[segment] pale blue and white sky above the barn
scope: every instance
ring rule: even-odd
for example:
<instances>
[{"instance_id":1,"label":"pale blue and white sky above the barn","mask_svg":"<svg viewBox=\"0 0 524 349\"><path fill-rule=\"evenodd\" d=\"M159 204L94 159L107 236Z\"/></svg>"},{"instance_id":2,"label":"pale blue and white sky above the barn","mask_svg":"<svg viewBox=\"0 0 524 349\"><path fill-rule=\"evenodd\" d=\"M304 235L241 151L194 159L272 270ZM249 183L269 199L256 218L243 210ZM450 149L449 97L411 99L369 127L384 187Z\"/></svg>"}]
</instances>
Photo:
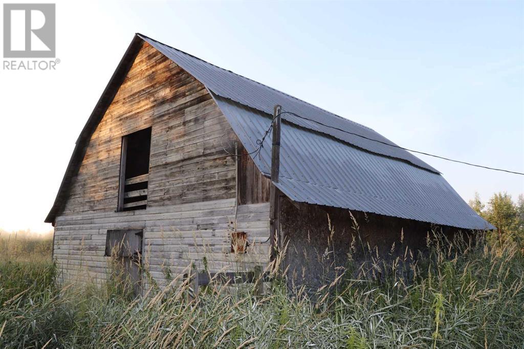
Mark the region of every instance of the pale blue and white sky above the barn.
<instances>
[{"instance_id":1,"label":"pale blue and white sky above the barn","mask_svg":"<svg viewBox=\"0 0 524 349\"><path fill-rule=\"evenodd\" d=\"M0 71L0 227L50 228L74 141L135 32L401 146L524 172L522 1L57 2L57 71ZM524 192L523 176L419 157L465 200Z\"/></svg>"}]
</instances>

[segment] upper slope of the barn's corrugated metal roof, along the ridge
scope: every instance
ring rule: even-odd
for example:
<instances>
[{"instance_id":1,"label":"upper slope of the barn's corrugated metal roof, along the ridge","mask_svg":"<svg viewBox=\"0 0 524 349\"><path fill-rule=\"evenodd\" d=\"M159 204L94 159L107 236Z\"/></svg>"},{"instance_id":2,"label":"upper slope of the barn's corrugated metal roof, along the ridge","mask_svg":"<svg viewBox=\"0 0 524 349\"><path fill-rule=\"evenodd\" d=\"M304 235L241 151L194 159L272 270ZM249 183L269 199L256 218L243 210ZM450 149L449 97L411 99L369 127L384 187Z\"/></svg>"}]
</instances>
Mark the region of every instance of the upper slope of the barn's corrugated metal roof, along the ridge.
<instances>
[{"instance_id":1,"label":"upper slope of the barn's corrugated metal roof, along the ridge","mask_svg":"<svg viewBox=\"0 0 524 349\"><path fill-rule=\"evenodd\" d=\"M242 75L238 75L231 71L216 67L211 63L191 56L188 53L174 49L154 39L148 38L147 36L141 34L138 34L138 36L165 54L165 56L169 57L184 70L188 71L191 75L193 75L193 77L200 80L206 86L206 88L221 97L233 100L243 105L247 105L268 114L272 114L274 106L276 104L280 104L286 111L307 117L313 121L321 122L325 125L343 129L347 132L352 132L367 138L380 140L387 144L395 145L392 143L392 141L388 140L384 136L381 136L369 127L337 116L286 93L242 77ZM363 148L377 154L403 159L419 167L438 172L438 170L434 169L406 150L390 147L386 144L380 144L372 140L347 134L340 130L326 127L289 114L282 115L282 118L299 126L344 140L359 148Z\"/></svg>"}]
</instances>

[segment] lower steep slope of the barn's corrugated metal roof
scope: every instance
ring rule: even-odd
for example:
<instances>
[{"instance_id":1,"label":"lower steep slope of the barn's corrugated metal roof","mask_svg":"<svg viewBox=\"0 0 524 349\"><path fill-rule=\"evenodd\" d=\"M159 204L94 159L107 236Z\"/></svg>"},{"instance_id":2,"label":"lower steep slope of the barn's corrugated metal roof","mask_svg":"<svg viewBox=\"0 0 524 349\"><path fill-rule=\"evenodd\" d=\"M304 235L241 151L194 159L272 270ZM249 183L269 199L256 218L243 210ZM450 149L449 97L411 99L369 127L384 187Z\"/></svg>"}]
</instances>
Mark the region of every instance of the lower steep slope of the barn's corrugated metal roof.
<instances>
[{"instance_id":1,"label":"lower steep slope of the barn's corrugated metal roof","mask_svg":"<svg viewBox=\"0 0 524 349\"><path fill-rule=\"evenodd\" d=\"M214 95L248 152L257 149L271 115ZM333 137L282 123L276 186L290 199L467 229L493 229L439 174L363 151ZM269 176L271 135L257 167Z\"/></svg>"}]
</instances>

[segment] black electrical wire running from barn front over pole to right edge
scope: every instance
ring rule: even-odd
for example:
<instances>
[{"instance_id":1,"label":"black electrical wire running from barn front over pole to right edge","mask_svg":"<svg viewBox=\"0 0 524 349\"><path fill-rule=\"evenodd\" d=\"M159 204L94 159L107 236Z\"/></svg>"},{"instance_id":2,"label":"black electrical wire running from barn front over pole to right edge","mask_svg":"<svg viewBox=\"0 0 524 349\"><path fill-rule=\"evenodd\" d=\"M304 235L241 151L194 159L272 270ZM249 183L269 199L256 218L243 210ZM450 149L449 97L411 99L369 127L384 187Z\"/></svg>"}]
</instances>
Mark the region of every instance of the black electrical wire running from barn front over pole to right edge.
<instances>
[{"instance_id":1,"label":"black electrical wire running from barn front over pole to right edge","mask_svg":"<svg viewBox=\"0 0 524 349\"><path fill-rule=\"evenodd\" d=\"M377 143L380 143L380 144L384 144L384 145L387 145L387 146L390 146L390 147L394 147L394 148L398 148L398 149L402 149L402 150L407 150L407 151L411 151L411 152L416 152L417 154L422 154L422 155L427 155L427 156L431 156L431 157L434 157L434 158L438 158L438 159L442 159L442 160L446 160L446 161L452 161L452 162L457 162L457 163L462 163L463 165L468 165L468 166L473 166L473 167L479 167L479 168L484 168L484 169L488 169L488 170L493 170L493 171L502 171L502 172L507 172L507 173L514 173L514 174L519 174L520 176L524 176L524 173L522 172L516 172L516 171L510 171L510 170L505 170L505 169L500 169L500 168L494 168L494 167L488 167L488 166L483 166L483 165L476 165L475 163L471 163L471 162L466 162L466 161L460 161L460 160L454 160L454 159L450 159L450 158L446 158L446 157L443 157L443 156L440 156L440 155L434 155L434 154L430 154L429 152L424 152L424 151L419 151L419 150L413 150L413 149L409 149L409 148L404 148L404 147L401 147L401 146L398 146L398 145L395 145L395 144L389 144L385 141L382 141L382 140L378 140L378 139L373 139L373 138L369 138L369 137L366 137L366 136L363 136L363 135L359 135L357 133L354 133L354 132L350 132L350 131L346 131L342 128L339 128L339 127L334 127L334 126L330 126L330 125L326 125L324 123L321 123L319 121L316 121L316 120L313 120L313 119L310 119L308 117L304 117L302 115L299 115L299 114L296 114L296 113L293 113L293 112L280 112L278 113L272 120L271 120L271 124L269 125L269 128L266 130L266 132L264 133L264 136L261 138L261 139L257 139L256 143L258 145L258 148L255 149L254 151L252 152L248 152L247 155L251 155L251 154L257 154L258 156L260 156L260 151L262 150L262 148L264 147L264 140L266 139L266 137L268 136L269 132L271 132L271 129L273 127L273 123L275 122L275 119L277 117L279 117L280 115L282 114L290 114L290 115L293 115L293 116L296 116L298 118L301 118L301 119L304 119L304 120L307 120L307 121L311 121L311 122L314 122L316 124L319 124L319 125L322 125L324 127L329 127L329 128L332 128L332 129L336 129L336 130L339 130L340 132L344 132L344 133L347 133L347 134L350 134L350 135L353 135L353 136L357 136L357 137L361 137L361 138L364 138L364 139L367 139L367 140L370 140L370 141L374 141L374 142L377 142ZM242 155L236 155L236 154L231 154L230 152L228 152L225 148L224 150L227 152L227 154L229 155L233 155L233 156L242 156Z\"/></svg>"}]
</instances>

